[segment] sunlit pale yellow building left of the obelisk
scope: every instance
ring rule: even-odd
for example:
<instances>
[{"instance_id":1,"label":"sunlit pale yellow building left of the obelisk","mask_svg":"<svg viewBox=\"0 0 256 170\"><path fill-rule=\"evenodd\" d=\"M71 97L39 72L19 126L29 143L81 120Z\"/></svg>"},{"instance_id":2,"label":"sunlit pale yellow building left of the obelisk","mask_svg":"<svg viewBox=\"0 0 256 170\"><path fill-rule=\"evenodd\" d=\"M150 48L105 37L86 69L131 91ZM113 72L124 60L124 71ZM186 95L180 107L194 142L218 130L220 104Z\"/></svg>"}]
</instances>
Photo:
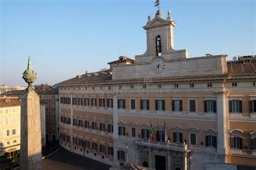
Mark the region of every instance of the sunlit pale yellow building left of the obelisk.
<instances>
[{"instance_id":1,"label":"sunlit pale yellow building left of the obelisk","mask_svg":"<svg viewBox=\"0 0 256 170\"><path fill-rule=\"evenodd\" d=\"M21 102L18 97L0 97L0 156L20 149Z\"/></svg>"}]
</instances>

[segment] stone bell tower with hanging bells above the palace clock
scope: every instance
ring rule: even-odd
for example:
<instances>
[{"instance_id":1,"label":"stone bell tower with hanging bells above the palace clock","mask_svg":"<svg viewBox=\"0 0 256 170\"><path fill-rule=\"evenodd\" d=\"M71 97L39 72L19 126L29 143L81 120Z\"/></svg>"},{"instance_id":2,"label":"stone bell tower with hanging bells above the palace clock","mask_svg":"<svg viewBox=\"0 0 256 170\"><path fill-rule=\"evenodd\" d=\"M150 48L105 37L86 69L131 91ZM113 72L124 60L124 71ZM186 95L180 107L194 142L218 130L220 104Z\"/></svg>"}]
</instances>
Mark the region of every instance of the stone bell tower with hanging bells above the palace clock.
<instances>
[{"instance_id":1,"label":"stone bell tower with hanging bells above the palace clock","mask_svg":"<svg viewBox=\"0 0 256 170\"><path fill-rule=\"evenodd\" d=\"M151 16L148 16L147 24L143 26L143 29L146 30L147 49L143 55L136 56L136 61L149 62L156 56L162 56L167 60L186 59L188 56L186 49L174 50L173 29L176 25L172 20L171 11L167 12L166 19L159 9L152 20Z\"/></svg>"}]
</instances>

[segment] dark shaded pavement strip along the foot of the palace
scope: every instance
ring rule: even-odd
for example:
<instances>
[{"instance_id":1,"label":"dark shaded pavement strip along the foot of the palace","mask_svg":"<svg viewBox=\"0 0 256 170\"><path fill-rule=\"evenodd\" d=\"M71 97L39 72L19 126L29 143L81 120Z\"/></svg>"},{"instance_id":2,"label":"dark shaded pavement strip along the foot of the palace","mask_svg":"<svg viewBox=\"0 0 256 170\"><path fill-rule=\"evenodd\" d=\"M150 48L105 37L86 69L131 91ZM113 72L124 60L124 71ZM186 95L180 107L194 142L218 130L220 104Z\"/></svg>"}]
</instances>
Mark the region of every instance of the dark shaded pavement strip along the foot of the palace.
<instances>
[{"instance_id":1,"label":"dark shaded pavement strip along the foot of the palace","mask_svg":"<svg viewBox=\"0 0 256 170\"><path fill-rule=\"evenodd\" d=\"M57 162L62 162L64 164L78 166L80 168L85 168L85 169L109 170L111 167L110 165L106 165L101 162L95 161L93 159L86 158L82 155L67 151L64 148L60 148L60 150L53 153L49 157L45 158L46 161L48 159L57 161Z\"/></svg>"}]
</instances>

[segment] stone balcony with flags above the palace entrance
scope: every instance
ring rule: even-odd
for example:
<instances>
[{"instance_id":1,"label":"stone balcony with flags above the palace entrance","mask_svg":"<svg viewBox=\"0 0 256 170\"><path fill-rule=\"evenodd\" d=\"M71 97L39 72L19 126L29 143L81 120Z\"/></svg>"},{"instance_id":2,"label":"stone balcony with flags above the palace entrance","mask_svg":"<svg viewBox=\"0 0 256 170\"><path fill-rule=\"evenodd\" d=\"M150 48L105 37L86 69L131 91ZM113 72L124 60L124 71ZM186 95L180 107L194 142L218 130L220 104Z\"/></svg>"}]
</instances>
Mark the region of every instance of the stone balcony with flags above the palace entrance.
<instances>
[{"instance_id":1,"label":"stone balcony with flags above the palace entrance","mask_svg":"<svg viewBox=\"0 0 256 170\"><path fill-rule=\"evenodd\" d=\"M150 140L143 140L143 139L136 139L135 144L139 146L154 147L154 148L160 148L165 150L175 150L175 151L183 151L183 152L187 150L187 145L184 145L184 144L164 143L159 141L150 141Z\"/></svg>"}]
</instances>

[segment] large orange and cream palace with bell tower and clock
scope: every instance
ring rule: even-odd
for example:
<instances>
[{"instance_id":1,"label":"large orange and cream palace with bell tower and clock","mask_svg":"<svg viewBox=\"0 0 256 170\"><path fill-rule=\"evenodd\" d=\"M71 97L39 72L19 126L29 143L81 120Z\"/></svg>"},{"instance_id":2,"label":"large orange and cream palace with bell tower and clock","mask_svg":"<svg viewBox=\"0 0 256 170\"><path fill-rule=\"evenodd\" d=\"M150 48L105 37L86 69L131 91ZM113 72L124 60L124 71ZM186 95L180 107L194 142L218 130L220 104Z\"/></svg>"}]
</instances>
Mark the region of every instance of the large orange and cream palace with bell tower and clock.
<instances>
[{"instance_id":1,"label":"large orange and cream palace with bell tower and clock","mask_svg":"<svg viewBox=\"0 0 256 170\"><path fill-rule=\"evenodd\" d=\"M256 163L256 58L188 58L175 26L158 10L144 54L56 84L62 147L116 168Z\"/></svg>"}]
</instances>

